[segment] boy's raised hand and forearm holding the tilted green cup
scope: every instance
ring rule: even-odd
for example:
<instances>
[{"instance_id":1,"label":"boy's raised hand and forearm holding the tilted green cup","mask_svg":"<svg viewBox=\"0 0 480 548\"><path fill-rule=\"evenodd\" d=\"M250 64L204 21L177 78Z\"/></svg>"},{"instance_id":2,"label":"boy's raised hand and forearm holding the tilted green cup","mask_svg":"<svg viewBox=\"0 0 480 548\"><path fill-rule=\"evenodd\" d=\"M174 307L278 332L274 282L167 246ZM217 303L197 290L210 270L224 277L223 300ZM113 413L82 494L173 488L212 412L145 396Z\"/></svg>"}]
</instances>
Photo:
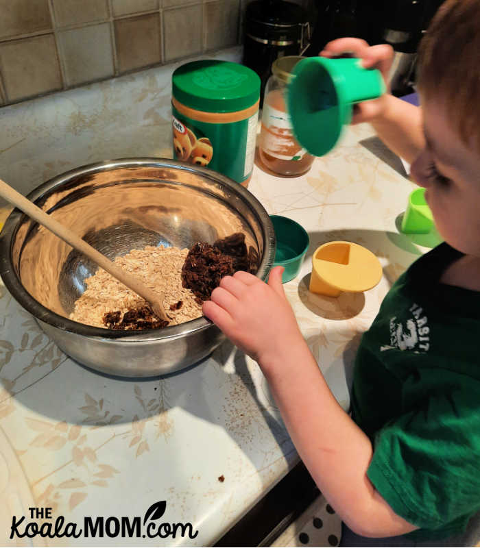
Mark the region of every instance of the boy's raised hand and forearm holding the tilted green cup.
<instances>
[{"instance_id":1,"label":"boy's raised hand and forearm holding the tilted green cup","mask_svg":"<svg viewBox=\"0 0 480 548\"><path fill-rule=\"evenodd\" d=\"M391 46L369 46L359 38L339 38L328 42L320 55L336 57L343 53L361 58L365 69L379 69L387 82L393 59ZM422 110L398 97L385 93L355 105L352 123L361 122L371 123L385 145L410 164L424 148Z\"/></svg>"}]
</instances>

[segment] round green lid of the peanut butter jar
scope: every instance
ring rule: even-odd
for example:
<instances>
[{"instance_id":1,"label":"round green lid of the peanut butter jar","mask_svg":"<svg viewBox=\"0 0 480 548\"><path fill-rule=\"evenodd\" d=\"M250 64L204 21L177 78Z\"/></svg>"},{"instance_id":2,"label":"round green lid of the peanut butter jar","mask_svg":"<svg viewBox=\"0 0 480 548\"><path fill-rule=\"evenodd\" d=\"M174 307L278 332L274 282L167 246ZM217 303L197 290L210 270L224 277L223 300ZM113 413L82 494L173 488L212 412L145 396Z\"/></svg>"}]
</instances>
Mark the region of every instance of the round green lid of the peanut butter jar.
<instances>
[{"instance_id":1,"label":"round green lid of the peanut butter jar","mask_svg":"<svg viewBox=\"0 0 480 548\"><path fill-rule=\"evenodd\" d=\"M202 60L179 66L172 77L173 97L195 110L235 112L251 107L260 97L260 78L227 61Z\"/></svg>"}]
</instances>

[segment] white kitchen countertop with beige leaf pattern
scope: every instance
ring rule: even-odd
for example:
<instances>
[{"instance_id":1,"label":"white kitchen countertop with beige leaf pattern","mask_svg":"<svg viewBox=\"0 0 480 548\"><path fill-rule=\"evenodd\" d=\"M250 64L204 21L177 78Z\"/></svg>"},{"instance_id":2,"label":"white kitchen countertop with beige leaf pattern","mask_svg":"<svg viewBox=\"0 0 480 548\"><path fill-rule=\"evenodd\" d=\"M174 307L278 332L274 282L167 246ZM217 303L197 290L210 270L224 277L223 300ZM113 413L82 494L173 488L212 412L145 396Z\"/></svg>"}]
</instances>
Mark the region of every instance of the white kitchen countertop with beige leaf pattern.
<instances>
[{"instance_id":1,"label":"white kitchen countertop with beige leaf pattern","mask_svg":"<svg viewBox=\"0 0 480 548\"><path fill-rule=\"evenodd\" d=\"M27 192L88 162L169 155L169 70L0 109L0 177ZM345 409L359 337L392 282L424 251L396 228L413 188L400 172L362 125L306 175L274 177L255 166L250 183L267 212L309 232L302 271L285 290ZM338 299L309 293L311 253L334 239L379 256L384 276L376 288ZM53 519L63 515L80 529L85 516L143 520L163 500L160 521L190 522L195 538L82 534L32 543L211 545L298 462L259 367L230 343L170 377L105 377L64 356L3 286L0 294L0 545L13 543L12 514L29 507L53 508Z\"/></svg>"}]
</instances>

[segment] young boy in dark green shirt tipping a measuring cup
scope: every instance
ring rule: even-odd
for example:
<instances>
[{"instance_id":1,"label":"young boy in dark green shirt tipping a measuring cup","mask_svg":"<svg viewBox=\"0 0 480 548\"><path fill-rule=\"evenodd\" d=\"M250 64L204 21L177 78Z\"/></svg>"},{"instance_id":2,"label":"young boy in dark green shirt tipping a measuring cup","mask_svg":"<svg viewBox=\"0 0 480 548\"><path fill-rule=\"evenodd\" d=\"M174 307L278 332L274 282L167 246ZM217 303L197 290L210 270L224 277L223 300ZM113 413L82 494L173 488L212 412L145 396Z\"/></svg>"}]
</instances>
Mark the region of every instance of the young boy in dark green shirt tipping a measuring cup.
<instances>
[{"instance_id":1,"label":"young boy in dark green shirt tipping a measuring cup","mask_svg":"<svg viewBox=\"0 0 480 548\"><path fill-rule=\"evenodd\" d=\"M387 74L389 47L344 38L322 55L345 51ZM445 538L480 510L479 52L480 2L447 0L422 42L422 110L384 95L355 113L413 162L446 243L400 276L363 335L351 418L300 334L280 268L268 284L225 277L204 303L259 363L313 479L362 536ZM399 344L407 322L412 338Z\"/></svg>"}]
</instances>

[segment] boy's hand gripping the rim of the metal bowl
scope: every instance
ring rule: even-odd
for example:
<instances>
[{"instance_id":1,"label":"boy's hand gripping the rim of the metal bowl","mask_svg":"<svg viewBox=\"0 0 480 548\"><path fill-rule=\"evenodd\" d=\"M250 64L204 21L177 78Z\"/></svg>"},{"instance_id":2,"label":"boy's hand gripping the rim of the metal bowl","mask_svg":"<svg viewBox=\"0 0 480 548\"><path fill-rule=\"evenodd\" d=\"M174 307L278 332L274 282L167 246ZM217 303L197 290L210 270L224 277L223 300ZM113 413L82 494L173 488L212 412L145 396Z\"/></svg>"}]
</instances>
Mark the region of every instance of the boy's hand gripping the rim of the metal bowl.
<instances>
[{"instance_id":1,"label":"boy's hand gripping the rim of the metal bowl","mask_svg":"<svg viewBox=\"0 0 480 548\"><path fill-rule=\"evenodd\" d=\"M285 345L303 341L282 273L281 266L272 269L268 284L246 272L226 276L203 305L205 316L257 362L281 358Z\"/></svg>"}]
</instances>

